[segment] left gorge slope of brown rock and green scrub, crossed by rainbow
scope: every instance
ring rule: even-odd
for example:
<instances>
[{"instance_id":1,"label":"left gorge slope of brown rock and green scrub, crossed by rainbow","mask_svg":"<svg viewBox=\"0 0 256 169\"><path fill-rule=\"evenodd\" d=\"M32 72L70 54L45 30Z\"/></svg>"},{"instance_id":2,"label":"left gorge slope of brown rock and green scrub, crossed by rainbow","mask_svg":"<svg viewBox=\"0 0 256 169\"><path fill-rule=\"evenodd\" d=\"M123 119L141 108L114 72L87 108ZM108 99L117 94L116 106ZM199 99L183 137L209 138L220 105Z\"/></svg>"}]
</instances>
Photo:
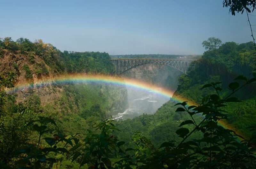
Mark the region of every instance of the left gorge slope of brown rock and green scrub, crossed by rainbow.
<instances>
[{"instance_id":1,"label":"left gorge slope of brown rock and green scrub, crossed by rainbow","mask_svg":"<svg viewBox=\"0 0 256 169\"><path fill-rule=\"evenodd\" d=\"M35 141L36 133L24 129L26 135L20 134L24 131L20 127L38 116L54 119L59 132L65 135L84 135L87 129L94 130L94 124L126 109L127 91L124 87L55 83L63 74L112 74L113 70L108 53L61 52L42 40L32 43L23 38L16 42L11 38L0 39L1 80L11 74L14 86L30 83L29 88L21 88L4 99L6 106L1 114L4 119L1 119L0 130L1 161L12 163L15 160L12 153L20 148L22 141L14 143L14 137ZM37 86L45 79L52 82ZM17 115L19 111L22 115ZM12 136L6 142L10 133Z\"/></svg>"}]
</instances>

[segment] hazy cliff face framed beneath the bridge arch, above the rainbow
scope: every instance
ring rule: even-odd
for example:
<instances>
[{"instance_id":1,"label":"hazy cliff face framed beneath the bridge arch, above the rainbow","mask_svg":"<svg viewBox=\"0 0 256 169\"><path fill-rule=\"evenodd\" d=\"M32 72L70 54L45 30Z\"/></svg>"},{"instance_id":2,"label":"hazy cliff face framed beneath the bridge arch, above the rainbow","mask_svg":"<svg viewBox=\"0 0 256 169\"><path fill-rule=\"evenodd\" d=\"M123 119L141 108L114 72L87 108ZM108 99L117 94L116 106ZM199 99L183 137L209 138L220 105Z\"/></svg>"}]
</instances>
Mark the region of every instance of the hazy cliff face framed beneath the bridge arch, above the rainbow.
<instances>
[{"instance_id":1,"label":"hazy cliff face framed beneath the bridge arch, above the rainbow","mask_svg":"<svg viewBox=\"0 0 256 169\"><path fill-rule=\"evenodd\" d=\"M183 73L166 65L145 64L126 71L122 76L142 81L175 91L178 79Z\"/></svg>"}]
</instances>

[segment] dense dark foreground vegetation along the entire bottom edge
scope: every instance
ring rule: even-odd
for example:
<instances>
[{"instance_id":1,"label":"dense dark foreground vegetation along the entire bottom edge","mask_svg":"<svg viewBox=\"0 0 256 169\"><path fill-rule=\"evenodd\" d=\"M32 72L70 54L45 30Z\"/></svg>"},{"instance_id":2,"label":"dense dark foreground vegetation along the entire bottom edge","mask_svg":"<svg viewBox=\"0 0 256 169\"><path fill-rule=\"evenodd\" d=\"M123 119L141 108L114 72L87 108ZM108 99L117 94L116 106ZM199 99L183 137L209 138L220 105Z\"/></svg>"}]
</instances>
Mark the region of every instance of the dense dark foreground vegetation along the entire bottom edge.
<instances>
[{"instance_id":1,"label":"dense dark foreground vegetation along the entire bottom edge","mask_svg":"<svg viewBox=\"0 0 256 169\"><path fill-rule=\"evenodd\" d=\"M5 97L3 89L12 87L13 80L13 74L1 78L1 98ZM256 77L247 80L244 76L238 76L237 80L243 81L243 87L255 82ZM219 120L227 119L227 115L223 113L223 107L229 102L236 102L236 104L240 102L233 97L233 94L241 88L235 82L230 83L230 92L225 98L219 95L219 91L222 90L220 83L206 84L203 88L213 88L216 94L204 97L204 102L200 106L187 106L186 102L177 103L179 107L176 112L180 112L178 116L169 112L172 109L170 107L171 109L159 109L159 114L156 114L160 118L158 122L150 120L150 118L154 119L153 115L143 115L132 123L132 120L121 123L117 126L126 131L124 133L121 131L119 137L116 137L116 134L120 130L110 119L95 124L94 130L87 130L83 135L67 135L58 128L58 124L52 118L31 117L34 112L22 104L15 104L13 108L15 113L10 114L9 106L3 102L0 143L4 152L1 155L4 156L1 156L3 162L1 166L3 168L9 166L19 166L19 168L78 168L79 166L85 168L88 166L91 168L253 168L256 164L254 155L256 150L253 148L255 137L247 141L238 141L234 131L218 125ZM7 116L8 114L11 116ZM200 114L203 115L202 118L198 118ZM173 123L168 123L169 120L182 121L179 122L181 128L175 128ZM150 133L153 136L152 142L164 141L164 143L154 145L138 131L130 137L133 145L120 141L122 137L127 138L127 135L129 137L127 130L131 126L144 127L142 131L147 132L145 128L150 125L157 126ZM175 133L180 138L171 136L175 140L170 140L168 135L160 134L166 131L172 135L172 131L167 127L177 129ZM255 131L255 126L250 129ZM193 139L194 134L196 137ZM23 148L20 149L20 147Z\"/></svg>"}]
</instances>

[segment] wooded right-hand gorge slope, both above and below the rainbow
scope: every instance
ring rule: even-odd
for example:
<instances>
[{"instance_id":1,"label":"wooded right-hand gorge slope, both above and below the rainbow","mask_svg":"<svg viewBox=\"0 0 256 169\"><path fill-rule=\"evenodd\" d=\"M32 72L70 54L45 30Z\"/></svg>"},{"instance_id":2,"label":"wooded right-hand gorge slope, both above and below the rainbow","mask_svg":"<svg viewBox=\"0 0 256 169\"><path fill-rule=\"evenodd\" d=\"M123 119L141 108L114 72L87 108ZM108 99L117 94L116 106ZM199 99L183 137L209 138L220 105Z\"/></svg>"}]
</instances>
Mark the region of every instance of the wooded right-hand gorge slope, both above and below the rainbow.
<instances>
[{"instance_id":1,"label":"wooded right-hand gorge slope, both above and below the rainbow","mask_svg":"<svg viewBox=\"0 0 256 169\"><path fill-rule=\"evenodd\" d=\"M256 51L252 42L243 44L227 42L217 48L208 49L201 59L192 63L187 75L184 74L179 78L179 86L174 97L181 95L200 103L204 97L215 91L213 89L202 91L204 84L220 81L221 86L224 87L233 82L238 75L243 75L244 80L255 76L253 70L256 68ZM239 87L242 83L243 79L240 79L234 84ZM228 88L219 91L219 95L223 97L227 94ZM256 125L252 120L256 118L256 86L246 85L233 96L243 99L243 103L228 104L225 108L229 117L226 122L235 126L244 137L249 137L252 132L247 128L248 125Z\"/></svg>"}]
</instances>

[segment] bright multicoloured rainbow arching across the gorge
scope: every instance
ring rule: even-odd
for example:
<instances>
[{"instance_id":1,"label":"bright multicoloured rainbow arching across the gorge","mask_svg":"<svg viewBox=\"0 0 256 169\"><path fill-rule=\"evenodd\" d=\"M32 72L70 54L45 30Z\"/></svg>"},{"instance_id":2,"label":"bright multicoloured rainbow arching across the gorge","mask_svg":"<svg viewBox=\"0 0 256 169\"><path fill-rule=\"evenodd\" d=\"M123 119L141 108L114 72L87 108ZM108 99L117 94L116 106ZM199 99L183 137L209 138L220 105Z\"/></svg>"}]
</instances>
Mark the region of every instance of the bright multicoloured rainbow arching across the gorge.
<instances>
[{"instance_id":1,"label":"bright multicoloured rainbow arching across the gorge","mask_svg":"<svg viewBox=\"0 0 256 169\"><path fill-rule=\"evenodd\" d=\"M188 105L197 105L195 102L180 97L175 96L172 97L174 91L168 90L163 87L159 87L156 85L149 84L144 81L139 81L135 79L129 79L124 77L118 76L109 76L109 75L102 75L102 74L65 74L59 75L54 78L45 78L43 80L33 81L33 83L29 82L21 82L17 83L14 88L6 89L6 92L11 94L18 92L20 90L26 90L28 88L40 88L45 87L46 85L52 84L79 84L79 83L97 83L97 84L111 84L116 86L125 86L129 88L139 89L143 91L152 91L158 95L166 97L173 102L184 102L188 101ZM237 134L241 135L234 127L228 125L228 123L224 121L219 121L219 124L224 128L231 129L235 131Z\"/></svg>"}]
</instances>

